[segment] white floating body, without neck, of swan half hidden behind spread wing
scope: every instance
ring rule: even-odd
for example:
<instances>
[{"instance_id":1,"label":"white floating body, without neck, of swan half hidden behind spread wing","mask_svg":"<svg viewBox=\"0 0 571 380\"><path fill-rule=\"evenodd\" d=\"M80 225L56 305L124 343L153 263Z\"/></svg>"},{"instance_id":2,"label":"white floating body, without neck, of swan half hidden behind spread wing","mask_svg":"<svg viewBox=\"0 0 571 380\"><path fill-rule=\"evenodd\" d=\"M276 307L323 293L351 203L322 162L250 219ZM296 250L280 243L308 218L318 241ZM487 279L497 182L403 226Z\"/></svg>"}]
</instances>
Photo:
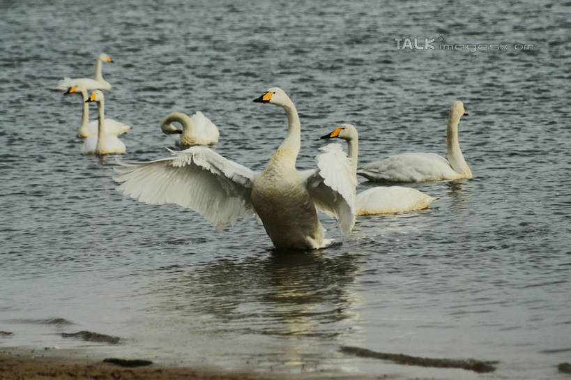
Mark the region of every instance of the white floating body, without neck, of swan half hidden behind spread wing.
<instances>
[{"instance_id":1,"label":"white floating body, without neck, of swan half hidden behind spread wing","mask_svg":"<svg viewBox=\"0 0 571 380\"><path fill-rule=\"evenodd\" d=\"M422 210L436 199L413 188L377 186L357 194L356 215Z\"/></svg>"}]
</instances>

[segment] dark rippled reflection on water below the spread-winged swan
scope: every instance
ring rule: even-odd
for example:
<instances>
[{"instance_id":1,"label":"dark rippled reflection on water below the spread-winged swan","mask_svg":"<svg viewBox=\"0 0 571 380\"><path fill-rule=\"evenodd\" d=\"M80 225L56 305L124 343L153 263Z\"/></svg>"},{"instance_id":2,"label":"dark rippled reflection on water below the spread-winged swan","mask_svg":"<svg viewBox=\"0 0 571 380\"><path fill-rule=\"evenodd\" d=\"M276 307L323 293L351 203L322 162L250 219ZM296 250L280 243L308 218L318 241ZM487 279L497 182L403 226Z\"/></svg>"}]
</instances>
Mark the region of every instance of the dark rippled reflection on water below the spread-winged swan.
<instances>
[{"instance_id":1,"label":"dark rippled reflection on water below the spread-winged swan","mask_svg":"<svg viewBox=\"0 0 571 380\"><path fill-rule=\"evenodd\" d=\"M200 321L191 328L327 338L340 333L335 322L352 317L356 298L347 287L357 271L351 254L274 251L261 259L177 267L144 292L153 294L154 312Z\"/></svg>"}]
</instances>

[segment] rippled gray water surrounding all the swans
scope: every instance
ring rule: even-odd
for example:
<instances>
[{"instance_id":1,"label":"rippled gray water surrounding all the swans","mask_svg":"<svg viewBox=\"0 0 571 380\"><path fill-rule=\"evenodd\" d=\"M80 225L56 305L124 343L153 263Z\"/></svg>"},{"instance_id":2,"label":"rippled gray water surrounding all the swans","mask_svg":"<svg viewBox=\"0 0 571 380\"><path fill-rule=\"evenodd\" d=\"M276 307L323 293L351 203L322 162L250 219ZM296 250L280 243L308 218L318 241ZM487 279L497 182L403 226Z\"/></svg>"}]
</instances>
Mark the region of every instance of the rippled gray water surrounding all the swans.
<instances>
[{"instance_id":1,"label":"rippled gray water surrounding all the swans","mask_svg":"<svg viewBox=\"0 0 571 380\"><path fill-rule=\"evenodd\" d=\"M13 332L0 347L301 379L567 378L556 365L571 361L569 3L38 4L0 3L0 330ZM351 236L321 215L336 245L276 252L253 219L215 231L191 210L139 203L114 190L113 155L79 153L79 97L49 88L91 77L100 52L115 61L103 66L106 116L133 126L123 158L166 157L162 117L201 110L220 130L213 149L261 170L287 122L252 100L280 86L300 113L300 168L341 122L357 126L363 164L445 155L462 100L474 178L406 184L441 199L358 218ZM78 330L123 344L60 336ZM342 346L499 363L405 367Z\"/></svg>"}]
</instances>

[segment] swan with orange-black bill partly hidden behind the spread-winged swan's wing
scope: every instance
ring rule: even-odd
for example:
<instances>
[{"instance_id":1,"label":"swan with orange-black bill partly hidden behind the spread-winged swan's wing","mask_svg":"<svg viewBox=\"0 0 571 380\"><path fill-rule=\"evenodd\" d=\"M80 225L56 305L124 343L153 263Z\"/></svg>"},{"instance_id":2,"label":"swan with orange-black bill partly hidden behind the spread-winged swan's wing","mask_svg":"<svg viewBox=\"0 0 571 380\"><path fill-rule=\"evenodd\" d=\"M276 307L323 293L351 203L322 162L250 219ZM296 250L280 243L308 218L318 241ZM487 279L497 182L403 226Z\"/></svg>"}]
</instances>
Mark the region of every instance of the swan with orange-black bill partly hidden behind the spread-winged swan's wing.
<instances>
[{"instance_id":1,"label":"swan with orange-black bill partly hidden behind the spread-winged swan's wing","mask_svg":"<svg viewBox=\"0 0 571 380\"><path fill-rule=\"evenodd\" d=\"M353 165L353 173L357 172L359 135L353 124L341 124L333 132L321 137L331 139L337 137L347 141L349 158ZM424 192L403 186L377 186L356 195L355 215L373 215L382 213L402 213L405 211L427 208L438 197L430 197Z\"/></svg>"}]
</instances>

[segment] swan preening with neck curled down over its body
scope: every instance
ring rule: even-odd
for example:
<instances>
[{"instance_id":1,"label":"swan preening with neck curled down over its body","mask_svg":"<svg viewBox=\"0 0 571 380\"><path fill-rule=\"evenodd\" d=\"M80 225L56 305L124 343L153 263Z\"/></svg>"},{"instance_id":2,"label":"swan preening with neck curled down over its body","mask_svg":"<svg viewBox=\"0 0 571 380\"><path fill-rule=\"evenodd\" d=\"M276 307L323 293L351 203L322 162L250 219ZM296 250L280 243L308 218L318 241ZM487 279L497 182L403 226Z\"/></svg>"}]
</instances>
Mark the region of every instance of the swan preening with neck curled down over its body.
<instances>
[{"instance_id":1,"label":"swan preening with neck curled down over its body","mask_svg":"<svg viewBox=\"0 0 571 380\"><path fill-rule=\"evenodd\" d=\"M172 123L181 123L183 129L178 129ZM216 144L220 133L218 128L202 112L197 111L192 117L183 112L171 112L160 123L160 129L165 135L180 134L176 140L178 146Z\"/></svg>"}]
</instances>

